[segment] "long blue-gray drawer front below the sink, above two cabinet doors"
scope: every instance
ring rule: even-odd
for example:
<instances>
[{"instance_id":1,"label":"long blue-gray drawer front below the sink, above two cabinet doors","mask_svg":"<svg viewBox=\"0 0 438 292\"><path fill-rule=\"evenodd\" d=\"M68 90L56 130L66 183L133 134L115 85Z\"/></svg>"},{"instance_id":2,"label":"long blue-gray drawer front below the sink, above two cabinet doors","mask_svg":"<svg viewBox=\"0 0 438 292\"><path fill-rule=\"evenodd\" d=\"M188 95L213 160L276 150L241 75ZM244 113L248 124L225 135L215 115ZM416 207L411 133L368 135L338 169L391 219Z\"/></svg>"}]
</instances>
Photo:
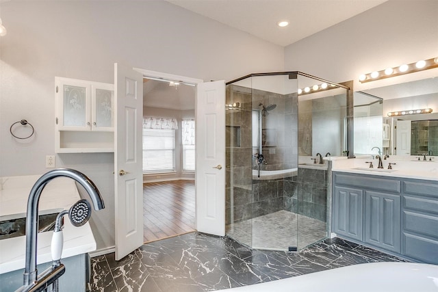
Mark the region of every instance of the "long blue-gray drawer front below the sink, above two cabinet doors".
<instances>
[{"instance_id":1,"label":"long blue-gray drawer front below the sink, above two cabinet doors","mask_svg":"<svg viewBox=\"0 0 438 292\"><path fill-rule=\"evenodd\" d=\"M336 185L353 185L381 191L400 193L400 181L377 178L371 176L353 176L348 174L335 174Z\"/></svg>"}]
</instances>

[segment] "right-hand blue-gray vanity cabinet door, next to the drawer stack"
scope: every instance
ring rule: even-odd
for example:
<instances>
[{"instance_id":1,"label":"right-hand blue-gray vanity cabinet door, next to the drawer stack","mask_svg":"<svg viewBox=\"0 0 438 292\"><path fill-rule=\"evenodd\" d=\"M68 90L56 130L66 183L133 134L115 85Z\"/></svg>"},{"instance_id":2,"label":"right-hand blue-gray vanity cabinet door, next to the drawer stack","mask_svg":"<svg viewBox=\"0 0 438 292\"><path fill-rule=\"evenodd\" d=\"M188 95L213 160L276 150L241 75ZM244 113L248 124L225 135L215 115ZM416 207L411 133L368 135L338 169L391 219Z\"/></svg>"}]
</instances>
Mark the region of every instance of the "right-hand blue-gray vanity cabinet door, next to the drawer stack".
<instances>
[{"instance_id":1,"label":"right-hand blue-gray vanity cabinet door, next to the drawer stack","mask_svg":"<svg viewBox=\"0 0 438 292\"><path fill-rule=\"evenodd\" d=\"M400 196L365 191L365 242L400 252Z\"/></svg>"}]
</instances>

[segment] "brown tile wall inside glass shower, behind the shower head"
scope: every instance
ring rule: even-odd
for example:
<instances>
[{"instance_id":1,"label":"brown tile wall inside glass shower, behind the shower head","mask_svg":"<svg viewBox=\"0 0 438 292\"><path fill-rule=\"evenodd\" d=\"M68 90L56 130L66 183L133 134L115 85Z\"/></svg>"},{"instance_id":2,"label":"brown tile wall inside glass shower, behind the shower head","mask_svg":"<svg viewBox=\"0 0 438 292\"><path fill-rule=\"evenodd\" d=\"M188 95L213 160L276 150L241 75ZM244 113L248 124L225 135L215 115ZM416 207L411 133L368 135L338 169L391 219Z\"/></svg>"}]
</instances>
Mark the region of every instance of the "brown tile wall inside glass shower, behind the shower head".
<instances>
[{"instance_id":1,"label":"brown tile wall inside glass shower, behind the shower head","mask_svg":"<svg viewBox=\"0 0 438 292\"><path fill-rule=\"evenodd\" d=\"M291 211L285 204L284 179L253 180L255 161L259 152L253 148L253 109L261 105L276 105L262 116L263 131L274 133L267 144L263 139L263 157L268 161L261 170L296 168L298 164L298 97L296 94L276 94L251 90L236 85L227 86L227 104L240 103L240 110L226 112L227 124L227 224L241 222L276 211ZM290 178L287 178L290 179ZM289 208L289 209L287 209ZM233 215L231 215L233 214Z\"/></svg>"}]
</instances>

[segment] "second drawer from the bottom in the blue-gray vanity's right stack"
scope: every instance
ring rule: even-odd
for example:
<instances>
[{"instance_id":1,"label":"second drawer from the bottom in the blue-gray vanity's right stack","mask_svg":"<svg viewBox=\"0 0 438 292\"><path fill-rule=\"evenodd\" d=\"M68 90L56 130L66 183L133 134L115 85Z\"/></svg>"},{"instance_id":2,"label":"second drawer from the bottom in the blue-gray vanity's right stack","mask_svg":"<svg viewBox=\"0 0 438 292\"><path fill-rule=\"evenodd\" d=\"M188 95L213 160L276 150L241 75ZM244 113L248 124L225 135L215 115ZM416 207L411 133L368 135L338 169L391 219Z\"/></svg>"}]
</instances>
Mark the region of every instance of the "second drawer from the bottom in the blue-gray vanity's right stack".
<instances>
[{"instance_id":1,"label":"second drawer from the bottom in the blue-gray vanity's right stack","mask_svg":"<svg viewBox=\"0 0 438 292\"><path fill-rule=\"evenodd\" d=\"M413 233L437 237L438 239L438 217L404 211L404 230Z\"/></svg>"}]
</instances>

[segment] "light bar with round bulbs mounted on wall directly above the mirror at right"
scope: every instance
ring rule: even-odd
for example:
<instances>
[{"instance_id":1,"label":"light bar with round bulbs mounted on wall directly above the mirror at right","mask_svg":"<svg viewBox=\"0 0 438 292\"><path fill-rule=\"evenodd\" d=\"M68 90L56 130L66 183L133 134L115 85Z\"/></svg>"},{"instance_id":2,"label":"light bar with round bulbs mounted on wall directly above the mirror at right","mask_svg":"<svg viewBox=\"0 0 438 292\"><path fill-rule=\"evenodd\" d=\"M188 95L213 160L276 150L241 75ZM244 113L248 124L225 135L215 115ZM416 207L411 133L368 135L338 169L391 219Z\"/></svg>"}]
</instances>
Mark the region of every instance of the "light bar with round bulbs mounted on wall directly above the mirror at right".
<instances>
[{"instance_id":1,"label":"light bar with round bulbs mounted on wall directly above the mirror at right","mask_svg":"<svg viewBox=\"0 0 438 292\"><path fill-rule=\"evenodd\" d=\"M398 67L387 68L385 70L374 71L368 74L363 74L359 76L359 81L361 83L385 79L389 77L395 77L399 75L405 75L413 72L418 72L422 70L428 70L432 68L438 68L438 57L420 60L411 64L402 64Z\"/></svg>"}]
</instances>

